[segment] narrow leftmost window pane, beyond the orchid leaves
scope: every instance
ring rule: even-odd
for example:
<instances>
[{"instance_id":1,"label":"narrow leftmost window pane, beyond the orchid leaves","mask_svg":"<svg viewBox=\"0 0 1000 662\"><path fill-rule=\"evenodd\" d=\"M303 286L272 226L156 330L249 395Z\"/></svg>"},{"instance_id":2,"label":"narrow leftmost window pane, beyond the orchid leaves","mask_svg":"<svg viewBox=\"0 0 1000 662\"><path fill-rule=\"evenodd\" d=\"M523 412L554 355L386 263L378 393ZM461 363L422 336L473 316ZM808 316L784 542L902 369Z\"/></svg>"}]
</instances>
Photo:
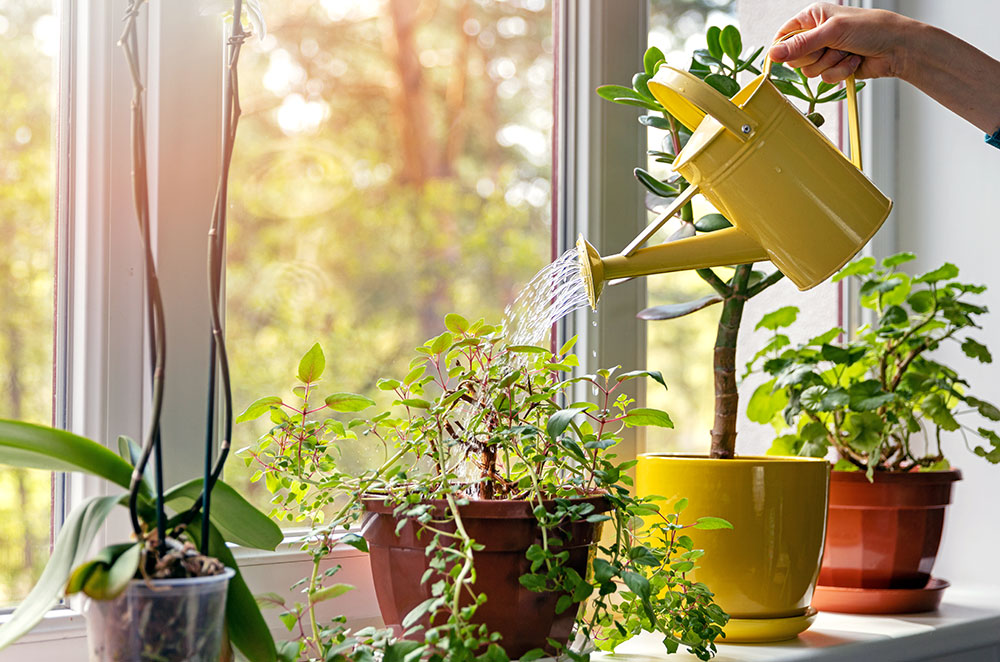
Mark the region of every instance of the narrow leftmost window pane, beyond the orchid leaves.
<instances>
[{"instance_id":1,"label":"narrow leftmost window pane, beyond the orchid leaves","mask_svg":"<svg viewBox=\"0 0 1000 662\"><path fill-rule=\"evenodd\" d=\"M52 0L0 1L0 417L52 422L55 256ZM49 556L52 477L0 468L0 608Z\"/></svg>"}]
</instances>

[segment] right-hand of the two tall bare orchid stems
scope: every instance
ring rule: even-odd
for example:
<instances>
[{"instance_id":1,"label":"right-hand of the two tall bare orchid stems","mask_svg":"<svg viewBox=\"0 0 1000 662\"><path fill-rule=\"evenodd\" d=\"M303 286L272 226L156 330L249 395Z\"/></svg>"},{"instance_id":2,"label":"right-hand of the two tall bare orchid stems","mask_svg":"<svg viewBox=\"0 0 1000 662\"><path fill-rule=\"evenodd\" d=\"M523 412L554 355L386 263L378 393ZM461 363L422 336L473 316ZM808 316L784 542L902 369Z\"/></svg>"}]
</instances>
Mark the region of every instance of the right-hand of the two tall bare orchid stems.
<instances>
[{"instance_id":1,"label":"right-hand of the two tall bare orchid stems","mask_svg":"<svg viewBox=\"0 0 1000 662\"><path fill-rule=\"evenodd\" d=\"M201 553L208 554L210 535L210 518L212 505L212 489L222 474L233 432L233 394L229 377L229 359L226 352L225 336L222 332L222 269L226 237L226 211L229 200L229 171L233 161L233 146L236 142L236 128L240 121L240 95L237 65L240 50L246 41L247 33L243 31L243 2L233 0L233 28L228 41L228 66L225 71L225 93L223 95L223 118L225 132L222 136L222 170L219 174L219 185L215 193L215 207L212 213L212 226L208 232L208 280L209 299L211 303L212 336L209 343L209 377L208 377L208 415L205 428L205 473L202 482L202 492L188 515L193 517L199 508L202 509L201 520ZM212 449L216 434L216 373L222 387L223 396L223 434L219 443L219 456L214 466Z\"/></svg>"}]
</instances>

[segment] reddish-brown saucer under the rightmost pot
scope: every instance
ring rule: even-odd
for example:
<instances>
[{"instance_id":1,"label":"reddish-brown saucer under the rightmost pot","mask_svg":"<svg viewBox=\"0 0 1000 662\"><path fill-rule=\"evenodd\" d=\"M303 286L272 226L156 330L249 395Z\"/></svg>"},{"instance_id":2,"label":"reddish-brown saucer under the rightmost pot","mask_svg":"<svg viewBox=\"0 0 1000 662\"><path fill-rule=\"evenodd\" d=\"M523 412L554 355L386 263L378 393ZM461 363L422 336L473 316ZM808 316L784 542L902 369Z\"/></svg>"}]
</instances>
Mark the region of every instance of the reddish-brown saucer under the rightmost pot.
<instances>
[{"instance_id":1,"label":"reddish-brown saucer under the rightmost pot","mask_svg":"<svg viewBox=\"0 0 1000 662\"><path fill-rule=\"evenodd\" d=\"M934 611L941 604L944 590L951 586L943 579L931 578L924 588L851 588L818 585L812 605L820 611L845 614L914 614Z\"/></svg>"}]
</instances>

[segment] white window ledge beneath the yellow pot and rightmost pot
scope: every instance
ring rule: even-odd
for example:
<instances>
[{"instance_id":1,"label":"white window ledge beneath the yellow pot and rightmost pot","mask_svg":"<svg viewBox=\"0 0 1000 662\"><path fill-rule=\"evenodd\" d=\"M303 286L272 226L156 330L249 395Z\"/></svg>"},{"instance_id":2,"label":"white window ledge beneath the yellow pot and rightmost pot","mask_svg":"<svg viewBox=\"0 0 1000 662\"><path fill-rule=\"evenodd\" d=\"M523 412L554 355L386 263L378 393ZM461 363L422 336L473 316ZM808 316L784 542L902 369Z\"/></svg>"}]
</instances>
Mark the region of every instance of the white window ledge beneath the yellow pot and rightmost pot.
<instances>
[{"instance_id":1,"label":"white window ledge beneath the yellow pot and rightmost pot","mask_svg":"<svg viewBox=\"0 0 1000 662\"><path fill-rule=\"evenodd\" d=\"M663 652L661 637L645 634L595 662L696 659ZM717 662L997 662L1000 661L1000 587L945 593L937 612L854 616L822 612L797 639L776 644L723 644Z\"/></svg>"}]
</instances>

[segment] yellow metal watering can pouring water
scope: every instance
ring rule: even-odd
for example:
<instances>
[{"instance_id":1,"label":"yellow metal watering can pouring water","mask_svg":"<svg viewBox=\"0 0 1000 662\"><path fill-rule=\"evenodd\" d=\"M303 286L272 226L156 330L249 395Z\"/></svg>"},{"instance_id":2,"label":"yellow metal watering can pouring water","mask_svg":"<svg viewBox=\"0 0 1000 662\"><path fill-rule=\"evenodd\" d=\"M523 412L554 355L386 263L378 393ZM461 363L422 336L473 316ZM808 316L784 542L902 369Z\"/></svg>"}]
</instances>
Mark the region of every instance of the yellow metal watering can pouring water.
<instances>
[{"instance_id":1,"label":"yellow metal watering can pouring water","mask_svg":"<svg viewBox=\"0 0 1000 662\"><path fill-rule=\"evenodd\" d=\"M759 260L771 260L807 290L882 226L892 201L861 172L854 77L847 80L848 160L778 91L770 70L768 59L764 73L732 100L666 65L649 81L653 96L692 131L673 163L691 185L618 255L601 257L581 235L577 250L592 307L606 281ZM643 248L699 192L734 227Z\"/></svg>"}]
</instances>

